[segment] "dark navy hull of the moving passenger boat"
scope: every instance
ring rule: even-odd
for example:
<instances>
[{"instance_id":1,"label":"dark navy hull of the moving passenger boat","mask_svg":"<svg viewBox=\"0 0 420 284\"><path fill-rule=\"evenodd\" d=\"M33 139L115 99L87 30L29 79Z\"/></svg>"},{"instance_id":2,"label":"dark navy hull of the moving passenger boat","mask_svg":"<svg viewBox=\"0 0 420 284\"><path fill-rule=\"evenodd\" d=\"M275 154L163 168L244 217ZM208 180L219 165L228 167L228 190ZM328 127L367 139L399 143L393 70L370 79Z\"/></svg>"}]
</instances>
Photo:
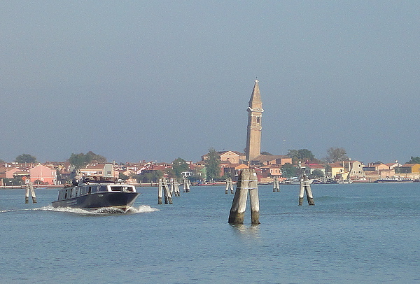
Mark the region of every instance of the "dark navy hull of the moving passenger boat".
<instances>
[{"instance_id":1,"label":"dark navy hull of the moving passenger boat","mask_svg":"<svg viewBox=\"0 0 420 284\"><path fill-rule=\"evenodd\" d=\"M69 199L53 201L53 207L70 208L119 208L124 212L134 204L139 192L95 192Z\"/></svg>"}]
</instances>

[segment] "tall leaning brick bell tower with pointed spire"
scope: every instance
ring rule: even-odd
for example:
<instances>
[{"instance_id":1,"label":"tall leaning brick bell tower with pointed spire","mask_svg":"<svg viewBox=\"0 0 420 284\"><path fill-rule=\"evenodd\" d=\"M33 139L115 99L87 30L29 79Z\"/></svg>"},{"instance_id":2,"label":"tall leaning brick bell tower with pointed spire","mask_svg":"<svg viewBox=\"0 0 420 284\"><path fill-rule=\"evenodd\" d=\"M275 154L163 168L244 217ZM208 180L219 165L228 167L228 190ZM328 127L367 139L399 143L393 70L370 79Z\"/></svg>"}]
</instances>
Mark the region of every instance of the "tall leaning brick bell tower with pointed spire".
<instances>
[{"instance_id":1,"label":"tall leaning brick bell tower with pointed spire","mask_svg":"<svg viewBox=\"0 0 420 284\"><path fill-rule=\"evenodd\" d=\"M262 101L260 95L260 87L258 87L258 80L255 80L255 85L249 100L248 109L248 127L246 132L246 161L250 162L261 153L261 116L264 110L262 109Z\"/></svg>"}]
</instances>

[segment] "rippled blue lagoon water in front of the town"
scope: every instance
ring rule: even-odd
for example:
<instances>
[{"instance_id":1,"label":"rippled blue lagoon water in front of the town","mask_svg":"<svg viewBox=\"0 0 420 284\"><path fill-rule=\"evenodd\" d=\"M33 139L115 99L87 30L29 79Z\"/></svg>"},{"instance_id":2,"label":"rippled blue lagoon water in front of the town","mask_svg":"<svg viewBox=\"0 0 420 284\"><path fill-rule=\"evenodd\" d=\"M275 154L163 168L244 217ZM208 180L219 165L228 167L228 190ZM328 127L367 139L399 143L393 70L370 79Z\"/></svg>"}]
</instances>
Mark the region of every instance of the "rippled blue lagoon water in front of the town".
<instances>
[{"instance_id":1,"label":"rippled blue lagoon water in front of the town","mask_svg":"<svg viewBox=\"0 0 420 284\"><path fill-rule=\"evenodd\" d=\"M0 190L0 283L419 283L420 184L259 187L228 225L233 194L191 187L173 205L157 188L127 214L55 209L57 190ZM306 201L306 200L305 200Z\"/></svg>"}]
</instances>

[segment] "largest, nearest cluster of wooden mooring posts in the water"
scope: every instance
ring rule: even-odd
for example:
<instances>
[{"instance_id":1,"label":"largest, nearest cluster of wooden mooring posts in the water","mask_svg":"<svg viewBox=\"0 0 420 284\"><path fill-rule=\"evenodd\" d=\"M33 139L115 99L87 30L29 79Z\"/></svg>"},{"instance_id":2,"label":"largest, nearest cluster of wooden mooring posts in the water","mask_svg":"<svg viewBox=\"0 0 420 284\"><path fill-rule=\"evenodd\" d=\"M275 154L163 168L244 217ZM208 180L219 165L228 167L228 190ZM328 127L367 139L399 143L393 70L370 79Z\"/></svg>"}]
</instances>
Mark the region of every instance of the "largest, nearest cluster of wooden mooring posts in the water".
<instances>
[{"instance_id":1,"label":"largest, nearest cluster of wooden mooring posts in the water","mask_svg":"<svg viewBox=\"0 0 420 284\"><path fill-rule=\"evenodd\" d=\"M230 208L229 224L244 224L248 192L251 201L251 224L260 224L260 200L258 199L258 179L255 169L243 169L239 175L235 196Z\"/></svg>"}]
</instances>

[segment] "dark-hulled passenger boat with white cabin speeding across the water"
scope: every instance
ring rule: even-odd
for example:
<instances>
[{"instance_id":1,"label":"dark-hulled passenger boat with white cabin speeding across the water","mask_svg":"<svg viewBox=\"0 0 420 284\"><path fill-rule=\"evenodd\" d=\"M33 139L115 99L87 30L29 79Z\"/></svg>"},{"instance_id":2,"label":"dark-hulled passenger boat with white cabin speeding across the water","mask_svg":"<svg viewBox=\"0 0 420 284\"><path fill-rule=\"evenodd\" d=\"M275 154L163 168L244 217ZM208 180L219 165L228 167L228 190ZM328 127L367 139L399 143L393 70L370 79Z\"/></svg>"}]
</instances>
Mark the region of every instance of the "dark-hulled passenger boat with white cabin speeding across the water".
<instances>
[{"instance_id":1,"label":"dark-hulled passenger boat with white cabin speeding across the water","mask_svg":"<svg viewBox=\"0 0 420 284\"><path fill-rule=\"evenodd\" d=\"M111 207L127 212L138 196L139 192L134 185L83 178L59 190L58 199L52 202L52 206L91 209Z\"/></svg>"}]
</instances>

